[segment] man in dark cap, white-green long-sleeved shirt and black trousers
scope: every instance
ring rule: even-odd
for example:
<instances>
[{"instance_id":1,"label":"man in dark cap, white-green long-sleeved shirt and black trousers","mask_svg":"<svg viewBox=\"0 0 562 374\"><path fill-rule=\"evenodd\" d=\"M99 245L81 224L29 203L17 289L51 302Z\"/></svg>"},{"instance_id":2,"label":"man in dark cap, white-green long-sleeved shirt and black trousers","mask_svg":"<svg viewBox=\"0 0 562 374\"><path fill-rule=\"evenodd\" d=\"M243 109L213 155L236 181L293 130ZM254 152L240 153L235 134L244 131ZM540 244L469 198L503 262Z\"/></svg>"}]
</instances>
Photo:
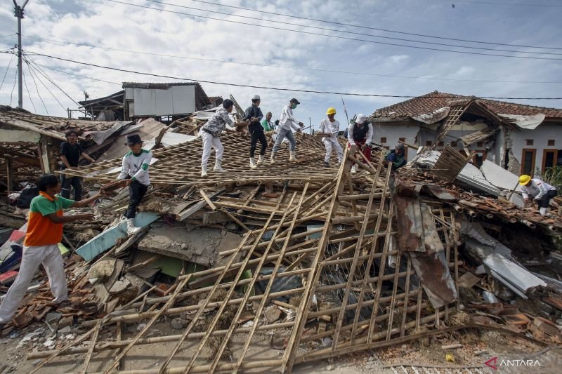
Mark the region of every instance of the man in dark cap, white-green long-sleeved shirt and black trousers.
<instances>
[{"instance_id":1,"label":"man in dark cap, white-green long-sleeved shirt and black trousers","mask_svg":"<svg viewBox=\"0 0 562 374\"><path fill-rule=\"evenodd\" d=\"M127 233L136 234L141 227L136 227L136 207L145 196L150 178L148 178L148 166L152 160L152 152L143 149L143 140L138 134L127 135L127 145L131 149L123 156L123 166L117 179L122 179L123 187L129 187L129 206L125 217L127 219Z\"/></svg>"}]
</instances>

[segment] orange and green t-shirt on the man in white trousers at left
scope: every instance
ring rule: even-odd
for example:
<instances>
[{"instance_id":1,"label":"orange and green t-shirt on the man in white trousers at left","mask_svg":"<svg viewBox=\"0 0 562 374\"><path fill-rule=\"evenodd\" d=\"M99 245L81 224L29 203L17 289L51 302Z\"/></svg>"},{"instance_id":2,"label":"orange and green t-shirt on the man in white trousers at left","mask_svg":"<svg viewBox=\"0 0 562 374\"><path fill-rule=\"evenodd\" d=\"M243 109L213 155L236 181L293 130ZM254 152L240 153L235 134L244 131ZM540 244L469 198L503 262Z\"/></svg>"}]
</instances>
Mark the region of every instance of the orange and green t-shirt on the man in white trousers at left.
<instances>
[{"instance_id":1,"label":"orange and green t-shirt on the man in white trousers at left","mask_svg":"<svg viewBox=\"0 0 562 374\"><path fill-rule=\"evenodd\" d=\"M30 204L30 218L27 221L27 234L23 245L27 247L57 244L63 239L63 224L51 221L47 215L63 215L63 209L70 208L74 200L55 196L53 199L45 192L39 192Z\"/></svg>"}]
</instances>

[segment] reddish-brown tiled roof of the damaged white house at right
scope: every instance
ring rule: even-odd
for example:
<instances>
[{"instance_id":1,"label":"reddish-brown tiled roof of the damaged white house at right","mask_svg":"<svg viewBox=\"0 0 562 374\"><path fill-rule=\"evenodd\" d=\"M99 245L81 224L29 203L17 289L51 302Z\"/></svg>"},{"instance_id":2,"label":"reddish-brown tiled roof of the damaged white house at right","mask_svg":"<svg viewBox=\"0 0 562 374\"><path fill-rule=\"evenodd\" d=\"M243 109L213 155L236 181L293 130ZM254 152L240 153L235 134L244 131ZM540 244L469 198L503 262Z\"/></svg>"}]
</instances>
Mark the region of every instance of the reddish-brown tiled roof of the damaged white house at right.
<instances>
[{"instance_id":1,"label":"reddish-brown tiled roof of the damaged white house at right","mask_svg":"<svg viewBox=\"0 0 562 374\"><path fill-rule=\"evenodd\" d=\"M398 118L398 117L418 117L433 116L435 113L448 108L450 100L458 98L469 98L464 95L454 93L444 93L433 91L417 98L412 98L397 104L377 109L372 117L374 118ZM562 119L562 109L535 107L533 105L518 104L515 102L505 102L499 100L475 98L476 101L495 112L495 114L511 114L520 116L532 116L544 114L547 118Z\"/></svg>"}]
</instances>

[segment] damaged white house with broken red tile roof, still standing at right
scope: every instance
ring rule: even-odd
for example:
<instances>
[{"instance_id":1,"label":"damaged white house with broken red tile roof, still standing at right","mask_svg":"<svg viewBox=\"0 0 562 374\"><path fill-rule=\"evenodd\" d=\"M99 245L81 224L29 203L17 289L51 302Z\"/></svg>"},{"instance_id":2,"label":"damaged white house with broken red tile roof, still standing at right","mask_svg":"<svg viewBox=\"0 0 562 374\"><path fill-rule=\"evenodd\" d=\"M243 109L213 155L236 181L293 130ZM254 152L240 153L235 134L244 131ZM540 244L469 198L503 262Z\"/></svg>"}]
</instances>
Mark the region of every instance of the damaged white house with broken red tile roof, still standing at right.
<instances>
[{"instance_id":1,"label":"damaged white house with broken red tile roof, still standing at right","mask_svg":"<svg viewBox=\"0 0 562 374\"><path fill-rule=\"evenodd\" d=\"M371 119L379 145L450 146L474 152L478 167L488 160L515 174L562 165L562 109L434 91L377 109Z\"/></svg>"}]
</instances>

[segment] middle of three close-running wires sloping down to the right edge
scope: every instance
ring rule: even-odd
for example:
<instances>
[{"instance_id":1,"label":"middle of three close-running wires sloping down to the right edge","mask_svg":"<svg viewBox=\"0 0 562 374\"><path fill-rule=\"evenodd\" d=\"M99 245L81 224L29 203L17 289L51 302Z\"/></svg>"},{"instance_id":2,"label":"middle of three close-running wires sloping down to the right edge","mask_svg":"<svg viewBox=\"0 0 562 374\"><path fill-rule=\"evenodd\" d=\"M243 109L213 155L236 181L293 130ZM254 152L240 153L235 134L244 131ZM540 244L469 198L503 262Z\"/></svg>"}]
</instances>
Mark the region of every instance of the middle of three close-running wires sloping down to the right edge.
<instances>
[{"instance_id":1,"label":"middle of three close-running wires sloping down to the right edge","mask_svg":"<svg viewBox=\"0 0 562 374\"><path fill-rule=\"evenodd\" d=\"M194 8L192 6L183 6L183 5L171 4L171 3L164 2L164 1L157 1L157 0L146 0L146 1L150 1L152 3L161 4L161 5L176 6L178 8L191 9L191 10L194 10L194 11L211 12L211 13L216 13L216 14L221 14L221 15L228 15L228 16L231 16L231 17L250 19L250 20L268 21L268 20L265 20L263 18L248 17L247 15L237 15L237 14L226 13L226 12L221 12L221 11L211 11L209 9ZM390 40L398 40L398 41L410 41L412 43L431 44L431 45L434 45L434 46L447 46L447 47L455 47L455 48L480 49L480 50L483 50L483 51L499 51L499 52L510 52L510 53L532 53L532 54L536 54L536 55L562 55L562 53L512 51L512 50L506 50L506 49L485 48L485 47L476 47L476 46L459 46L458 44L446 44L446 43L438 43L436 41L421 41L421 40L413 40L413 39L396 38L396 37L393 37L393 36L373 35L373 34L366 34L364 32L353 32L353 31L341 30L341 29L330 29L328 27L309 26L309 25L303 25L303 24L300 24L300 23L284 22L284 21L280 21L280 20L274 20L274 22L280 23L282 25L290 25L290 26L297 26L297 27L308 27L308 28L311 28L311 29L320 29L322 31L341 32L341 33L345 33L345 34L370 36L370 37L373 37L373 38L390 39Z\"/></svg>"}]
</instances>

